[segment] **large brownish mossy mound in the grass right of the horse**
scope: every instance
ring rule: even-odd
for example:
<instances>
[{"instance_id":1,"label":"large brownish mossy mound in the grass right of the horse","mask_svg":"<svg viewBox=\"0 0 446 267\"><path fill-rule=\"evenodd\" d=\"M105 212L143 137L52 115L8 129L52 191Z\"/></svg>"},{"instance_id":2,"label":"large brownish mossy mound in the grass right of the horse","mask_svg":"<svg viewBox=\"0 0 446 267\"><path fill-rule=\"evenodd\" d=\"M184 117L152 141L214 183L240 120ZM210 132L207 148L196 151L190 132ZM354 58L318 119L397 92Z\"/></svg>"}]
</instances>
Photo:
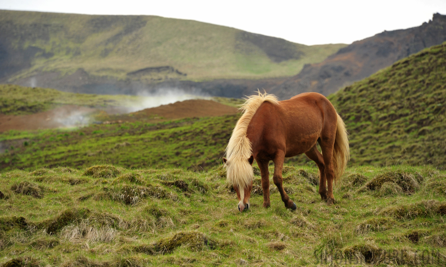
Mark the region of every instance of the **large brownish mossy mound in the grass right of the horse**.
<instances>
[{"instance_id":1,"label":"large brownish mossy mound in the grass right of the horse","mask_svg":"<svg viewBox=\"0 0 446 267\"><path fill-rule=\"evenodd\" d=\"M384 183L387 183L387 187L388 183L394 183L398 185L403 192L410 194L414 193L420 187L419 181L417 180L422 181L422 178L418 176L415 177L412 173L402 171L387 172L376 176L371 181L366 183L365 188L368 190L380 190Z\"/></svg>"}]
</instances>

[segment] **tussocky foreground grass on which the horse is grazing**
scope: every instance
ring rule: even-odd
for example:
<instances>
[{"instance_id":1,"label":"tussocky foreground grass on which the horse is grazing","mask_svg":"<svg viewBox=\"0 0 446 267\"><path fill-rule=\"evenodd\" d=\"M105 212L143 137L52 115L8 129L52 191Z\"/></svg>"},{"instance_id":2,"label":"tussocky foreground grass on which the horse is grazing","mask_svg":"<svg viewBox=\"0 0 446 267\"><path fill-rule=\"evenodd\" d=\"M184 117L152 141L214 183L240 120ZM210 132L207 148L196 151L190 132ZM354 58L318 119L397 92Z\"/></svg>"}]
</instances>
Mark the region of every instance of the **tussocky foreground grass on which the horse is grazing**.
<instances>
[{"instance_id":1,"label":"tussocky foreground grass on which the horse is grazing","mask_svg":"<svg viewBox=\"0 0 446 267\"><path fill-rule=\"evenodd\" d=\"M315 176L284 169L296 211L256 176L240 214L219 167L2 172L0 266L445 266L445 172L348 168L330 207Z\"/></svg>"}]
</instances>

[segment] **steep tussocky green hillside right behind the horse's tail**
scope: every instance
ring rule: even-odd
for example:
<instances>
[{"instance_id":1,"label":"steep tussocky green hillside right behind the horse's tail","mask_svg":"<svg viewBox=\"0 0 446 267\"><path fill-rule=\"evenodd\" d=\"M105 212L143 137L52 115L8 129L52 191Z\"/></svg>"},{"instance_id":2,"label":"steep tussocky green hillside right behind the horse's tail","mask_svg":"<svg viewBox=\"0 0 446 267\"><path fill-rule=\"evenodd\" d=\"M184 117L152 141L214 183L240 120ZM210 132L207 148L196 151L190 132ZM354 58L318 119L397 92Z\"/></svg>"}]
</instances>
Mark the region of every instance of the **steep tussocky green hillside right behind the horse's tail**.
<instances>
[{"instance_id":1,"label":"steep tussocky green hillside right behind the horse's tail","mask_svg":"<svg viewBox=\"0 0 446 267\"><path fill-rule=\"evenodd\" d=\"M404 161L446 168L446 42L329 99L350 132L352 164Z\"/></svg>"}]
</instances>

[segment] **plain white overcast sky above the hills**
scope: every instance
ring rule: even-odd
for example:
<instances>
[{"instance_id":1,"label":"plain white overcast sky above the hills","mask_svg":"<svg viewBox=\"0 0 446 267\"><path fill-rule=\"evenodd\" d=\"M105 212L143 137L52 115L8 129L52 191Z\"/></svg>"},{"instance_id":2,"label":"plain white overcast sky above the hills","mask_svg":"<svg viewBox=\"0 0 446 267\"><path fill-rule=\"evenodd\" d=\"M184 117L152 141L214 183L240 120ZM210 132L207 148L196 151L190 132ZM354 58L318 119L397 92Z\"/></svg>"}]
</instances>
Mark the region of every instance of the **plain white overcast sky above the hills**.
<instances>
[{"instance_id":1,"label":"plain white overcast sky above the hills","mask_svg":"<svg viewBox=\"0 0 446 267\"><path fill-rule=\"evenodd\" d=\"M0 0L0 9L156 15L316 45L419 26L434 13L446 15L446 0Z\"/></svg>"}]
</instances>

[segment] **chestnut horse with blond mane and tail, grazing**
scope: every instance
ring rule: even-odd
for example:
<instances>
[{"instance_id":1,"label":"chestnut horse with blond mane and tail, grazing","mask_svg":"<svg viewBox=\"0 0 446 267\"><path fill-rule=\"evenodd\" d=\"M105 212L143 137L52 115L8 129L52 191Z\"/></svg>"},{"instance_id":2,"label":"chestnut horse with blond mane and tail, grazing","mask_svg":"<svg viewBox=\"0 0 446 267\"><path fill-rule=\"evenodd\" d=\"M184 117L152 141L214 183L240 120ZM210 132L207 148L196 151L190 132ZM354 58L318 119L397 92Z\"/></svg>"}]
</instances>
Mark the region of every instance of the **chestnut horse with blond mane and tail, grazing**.
<instances>
[{"instance_id":1,"label":"chestnut horse with blond mane and tail, grazing","mask_svg":"<svg viewBox=\"0 0 446 267\"><path fill-rule=\"evenodd\" d=\"M350 157L345 124L333 105L318 93L298 94L284 101L278 101L273 94L258 93L241 106L243 115L232 131L227 159L223 158L240 212L249 209L254 159L262 177L263 206L270 206L268 164L273 160L274 184L285 207L296 209L283 188L282 168L285 157L302 153L318 165L319 194L327 205L333 204L333 181L343 174Z\"/></svg>"}]
</instances>

